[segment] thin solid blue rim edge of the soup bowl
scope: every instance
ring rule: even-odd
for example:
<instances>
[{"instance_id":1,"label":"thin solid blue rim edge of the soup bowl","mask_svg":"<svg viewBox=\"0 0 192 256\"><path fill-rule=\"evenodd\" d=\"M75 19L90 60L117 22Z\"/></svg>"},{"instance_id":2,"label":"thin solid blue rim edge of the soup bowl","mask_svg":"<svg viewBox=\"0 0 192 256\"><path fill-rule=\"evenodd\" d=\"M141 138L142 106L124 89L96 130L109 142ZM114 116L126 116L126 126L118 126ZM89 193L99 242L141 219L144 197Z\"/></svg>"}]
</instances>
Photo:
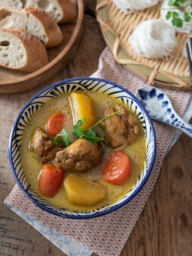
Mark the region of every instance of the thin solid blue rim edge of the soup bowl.
<instances>
[{"instance_id":1,"label":"thin solid blue rim edge of the soup bowl","mask_svg":"<svg viewBox=\"0 0 192 256\"><path fill-rule=\"evenodd\" d=\"M11 142L13 140L13 136L14 136L14 130L16 129L17 127L17 124L18 124L18 121L20 120L20 117L21 115L23 114L23 112L26 110L26 108L38 97L40 96L42 93L44 93L45 91L47 90L51 90L57 86L60 86L62 84L67 84L67 83L71 83L73 81L78 81L78 80L88 80L88 81L99 81L99 82L103 82L105 84L111 84L113 85L114 87L117 87L119 88L120 90L122 90L123 92L125 93L128 93L130 96L133 97L134 101L139 105L139 107L142 109L142 111L145 112L145 115L148 119L148 123L150 123L150 126L151 126L151 130L152 130L152 134L154 136L154 151L153 151L153 155L152 155L152 160L151 160L151 164L149 166L149 171L147 172L147 174L145 175L145 178L143 179L142 183L139 185L139 187L136 188L136 190L134 191L134 193L129 197L127 198L126 200L124 200L122 203L119 203L117 204L117 206L112 206L110 209L107 209L105 210L104 212L90 212L89 214L85 214L85 215L69 215L69 214L63 214L63 213L59 213L59 212L54 212L52 209L48 209L47 207L45 206L42 206L40 203L38 203L34 198L32 198L28 193L27 191L24 189L24 187L22 186L22 184L20 184L20 181L18 180L17 178L17 175L15 173L15 170L14 170L14 165L12 163L12 157L11 157ZM28 102L26 102L26 104L23 106L23 108L21 108L18 116L17 116L17 119L14 121L14 125L11 129L11 135L10 135L10 139L9 139L9 145L8 145L8 157L9 157L9 163L11 165L11 172L14 176L14 179L15 181L17 182L18 186L20 187L20 189L23 191L24 194L26 194L26 197L29 198L29 200L32 201L32 203L34 203L36 206L38 206L39 208L43 209L44 211L46 212L49 212L53 215L57 215L59 217L62 217L62 218L72 218L72 219L87 219L87 218L96 218L96 217L101 217L103 215L107 215L108 213L110 212L114 212L115 210L117 209L120 209L122 206L126 205L126 203L130 202L130 200L133 199L133 197L136 196L136 194L139 193L139 190L142 189L142 187L145 185L145 182L148 180L148 177L149 175L151 174L151 171L153 169L153 166L154 166L154 160L155 160L155 157L156 157L156 150L157 150L157 147L156 147L156 136L155 136L155 131L154 131L154 126L153 126L153 123L151 121L151 118L149 117L148 115L148 112L145 110L145 108L142 106L142 103L139 102L139 99L136 98L136 96L133 95L133 93L130 93L129 90L126 90L125 88L121 87L120 85L114 83L114 82L111 82L111 81L108 81L106 79L102 79L102 78L91 78L91 77L78 77L78 78L69 78L69 79L65 79L65 80L62 80L62 81L58 81L54 84L51 84L50 86L48 87L45 87L44 89L40 90L38 93L36 93L34 96L32 96L31 99L29 99Z\"/></svg>"}]
</instances>

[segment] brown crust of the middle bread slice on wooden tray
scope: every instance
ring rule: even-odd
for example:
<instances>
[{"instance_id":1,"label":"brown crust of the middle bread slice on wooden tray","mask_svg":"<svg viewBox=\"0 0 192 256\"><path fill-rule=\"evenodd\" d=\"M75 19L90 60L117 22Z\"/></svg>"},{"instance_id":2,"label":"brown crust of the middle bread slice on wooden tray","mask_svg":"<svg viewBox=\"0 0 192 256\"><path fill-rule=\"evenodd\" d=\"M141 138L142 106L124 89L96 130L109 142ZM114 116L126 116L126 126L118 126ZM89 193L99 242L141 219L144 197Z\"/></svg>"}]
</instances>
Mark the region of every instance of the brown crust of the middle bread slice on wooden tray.
<instances>
[{"instance_id":1,"label":"brown crust of the middle bread slice on wooden tray","mask_svg":"<svg viewBox=\"0 0 192 256\"><path fill-rule=\"evenodd\" d=\"M50 17L46 11L40 8L24 8L23 11L26 11L28 14L32 14L37 20L40 21L44 28L44 33L47 35L47 43L45 47L55 47L62 43L62 32L56 21Z\"/></svg>"}]
</instances>

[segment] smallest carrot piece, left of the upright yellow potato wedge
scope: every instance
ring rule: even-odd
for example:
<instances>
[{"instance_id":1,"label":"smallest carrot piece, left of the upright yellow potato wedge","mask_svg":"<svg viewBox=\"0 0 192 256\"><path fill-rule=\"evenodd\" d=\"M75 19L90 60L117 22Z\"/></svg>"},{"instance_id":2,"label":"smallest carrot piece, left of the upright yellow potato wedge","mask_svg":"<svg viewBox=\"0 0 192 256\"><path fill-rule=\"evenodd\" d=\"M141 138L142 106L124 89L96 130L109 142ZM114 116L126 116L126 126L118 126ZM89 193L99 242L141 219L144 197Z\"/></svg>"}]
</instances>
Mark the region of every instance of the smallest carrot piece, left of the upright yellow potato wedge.
<instances>
[{"instance_id":1,"label":"smallest carrot piece, left of the upright yellow potato wedge","mask_svg":"<svg viewBox=\"0 0 192 256\"><path fill-rule=\"evenodd\" d=\"M60 112L52 114L47 120L47 133L50 136L55 137L56 134L60 133L66 122L66 115Z\"/></svg>"}]
</instances>

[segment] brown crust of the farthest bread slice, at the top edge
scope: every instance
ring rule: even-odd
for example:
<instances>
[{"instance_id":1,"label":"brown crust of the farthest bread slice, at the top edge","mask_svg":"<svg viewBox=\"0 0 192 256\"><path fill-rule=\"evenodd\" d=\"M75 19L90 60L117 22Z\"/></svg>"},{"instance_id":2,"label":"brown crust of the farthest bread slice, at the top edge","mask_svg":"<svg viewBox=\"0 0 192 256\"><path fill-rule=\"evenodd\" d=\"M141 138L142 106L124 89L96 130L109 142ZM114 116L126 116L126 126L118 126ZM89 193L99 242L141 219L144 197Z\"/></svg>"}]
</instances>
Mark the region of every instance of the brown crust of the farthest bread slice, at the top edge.
<instances>
[{"instance_id":1,"label":"brown crust of the farthest bread slice, at the top edge","mask_svg":"<svg viewBox=\"0 0 192 256\"><path fill-rule=\"evenodd\" d=\"M62 19L58 23L68 23L75 20L78 14L77 6L72 0L57 0L62 9Z\"/></svg>"}]
</instances>

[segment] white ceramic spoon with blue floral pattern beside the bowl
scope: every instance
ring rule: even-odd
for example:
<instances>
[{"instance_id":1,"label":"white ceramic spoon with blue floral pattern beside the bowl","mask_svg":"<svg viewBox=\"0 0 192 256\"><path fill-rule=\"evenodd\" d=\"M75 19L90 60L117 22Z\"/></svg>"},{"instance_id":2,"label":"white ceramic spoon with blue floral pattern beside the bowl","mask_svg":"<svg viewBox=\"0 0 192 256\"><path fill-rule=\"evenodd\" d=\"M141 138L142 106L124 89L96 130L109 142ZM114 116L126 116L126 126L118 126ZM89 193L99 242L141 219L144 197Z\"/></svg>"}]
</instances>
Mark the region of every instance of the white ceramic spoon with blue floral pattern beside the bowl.
<instances>
[{"instance_id":1,"label":"white ceramic spoon with blue floral pattern beside the bowl","mask_svg":"<svg viewBox=\"0 0 192 256\"><path fill-rule=\"evenodd\" d=\"M162 90L150 86L142 87L137 90L136 97L148 111L151 119L174 126L192 138L192 125L175 113L172 103Z\"/></svg>"}]
</instances>

